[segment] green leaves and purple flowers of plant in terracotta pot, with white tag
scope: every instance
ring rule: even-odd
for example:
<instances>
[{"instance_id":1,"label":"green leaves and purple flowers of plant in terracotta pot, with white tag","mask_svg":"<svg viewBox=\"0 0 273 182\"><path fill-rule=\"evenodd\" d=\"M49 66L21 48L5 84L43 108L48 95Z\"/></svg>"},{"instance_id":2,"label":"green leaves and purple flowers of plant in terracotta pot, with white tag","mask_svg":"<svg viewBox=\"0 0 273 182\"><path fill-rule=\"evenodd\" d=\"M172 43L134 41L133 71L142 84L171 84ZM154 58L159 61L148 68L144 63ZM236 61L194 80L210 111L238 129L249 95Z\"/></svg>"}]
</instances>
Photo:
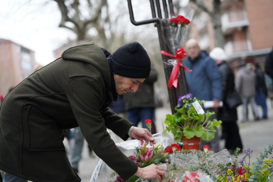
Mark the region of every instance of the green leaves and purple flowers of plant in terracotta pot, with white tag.
<instances>
[{"instance_id":1,"label":"green leaves and purple flowers of plant in terracotta pot, with white tag","mask_svg":"<svg viewBox=\"0 0 273 182\"><path fill-rule=\"evenodd\" d=\"M203 100L192 98L192 94L179 96L174 114L167 114L164 123L165 131L171 131L174 135L174 141L180 142L182 136L190 139L194 136L200 137L202 140L211 140L214 138L214 129L218 127L221 120L208 120L214 112L204 113L202 109ZM203 112L202 112L203 111Z\"/></svg>"}]
</instances>

